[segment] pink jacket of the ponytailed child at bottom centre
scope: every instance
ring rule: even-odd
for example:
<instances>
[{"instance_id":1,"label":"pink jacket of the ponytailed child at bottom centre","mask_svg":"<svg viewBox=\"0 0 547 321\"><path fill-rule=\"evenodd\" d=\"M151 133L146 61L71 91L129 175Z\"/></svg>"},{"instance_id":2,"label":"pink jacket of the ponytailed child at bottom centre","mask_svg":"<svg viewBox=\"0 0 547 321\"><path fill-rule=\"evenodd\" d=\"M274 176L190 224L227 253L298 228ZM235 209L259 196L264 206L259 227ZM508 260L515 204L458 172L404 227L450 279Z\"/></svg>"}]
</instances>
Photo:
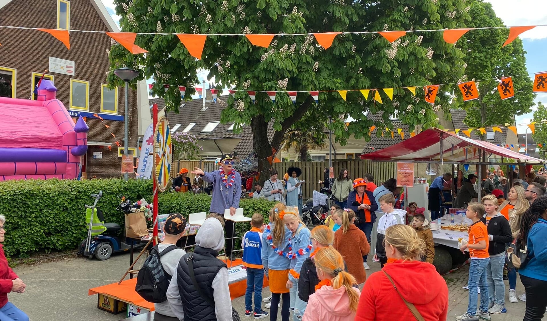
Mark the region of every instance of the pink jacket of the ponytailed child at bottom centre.
<instances>
[{"instance_id":1,"label":"pink jacket of the ponytailed child at bottom centre","mask_svg":"<svg viewBox=\"0 0 547 321\"><path fill-rule=\"evenodd\" d=\"M358 288L352 289L360 295ZM351 311L349 305L350 298L345 287L335 290L331 286L323 286L310 295L302 321L353 321L356 312Z\"/></svg>"}]
</instances>

